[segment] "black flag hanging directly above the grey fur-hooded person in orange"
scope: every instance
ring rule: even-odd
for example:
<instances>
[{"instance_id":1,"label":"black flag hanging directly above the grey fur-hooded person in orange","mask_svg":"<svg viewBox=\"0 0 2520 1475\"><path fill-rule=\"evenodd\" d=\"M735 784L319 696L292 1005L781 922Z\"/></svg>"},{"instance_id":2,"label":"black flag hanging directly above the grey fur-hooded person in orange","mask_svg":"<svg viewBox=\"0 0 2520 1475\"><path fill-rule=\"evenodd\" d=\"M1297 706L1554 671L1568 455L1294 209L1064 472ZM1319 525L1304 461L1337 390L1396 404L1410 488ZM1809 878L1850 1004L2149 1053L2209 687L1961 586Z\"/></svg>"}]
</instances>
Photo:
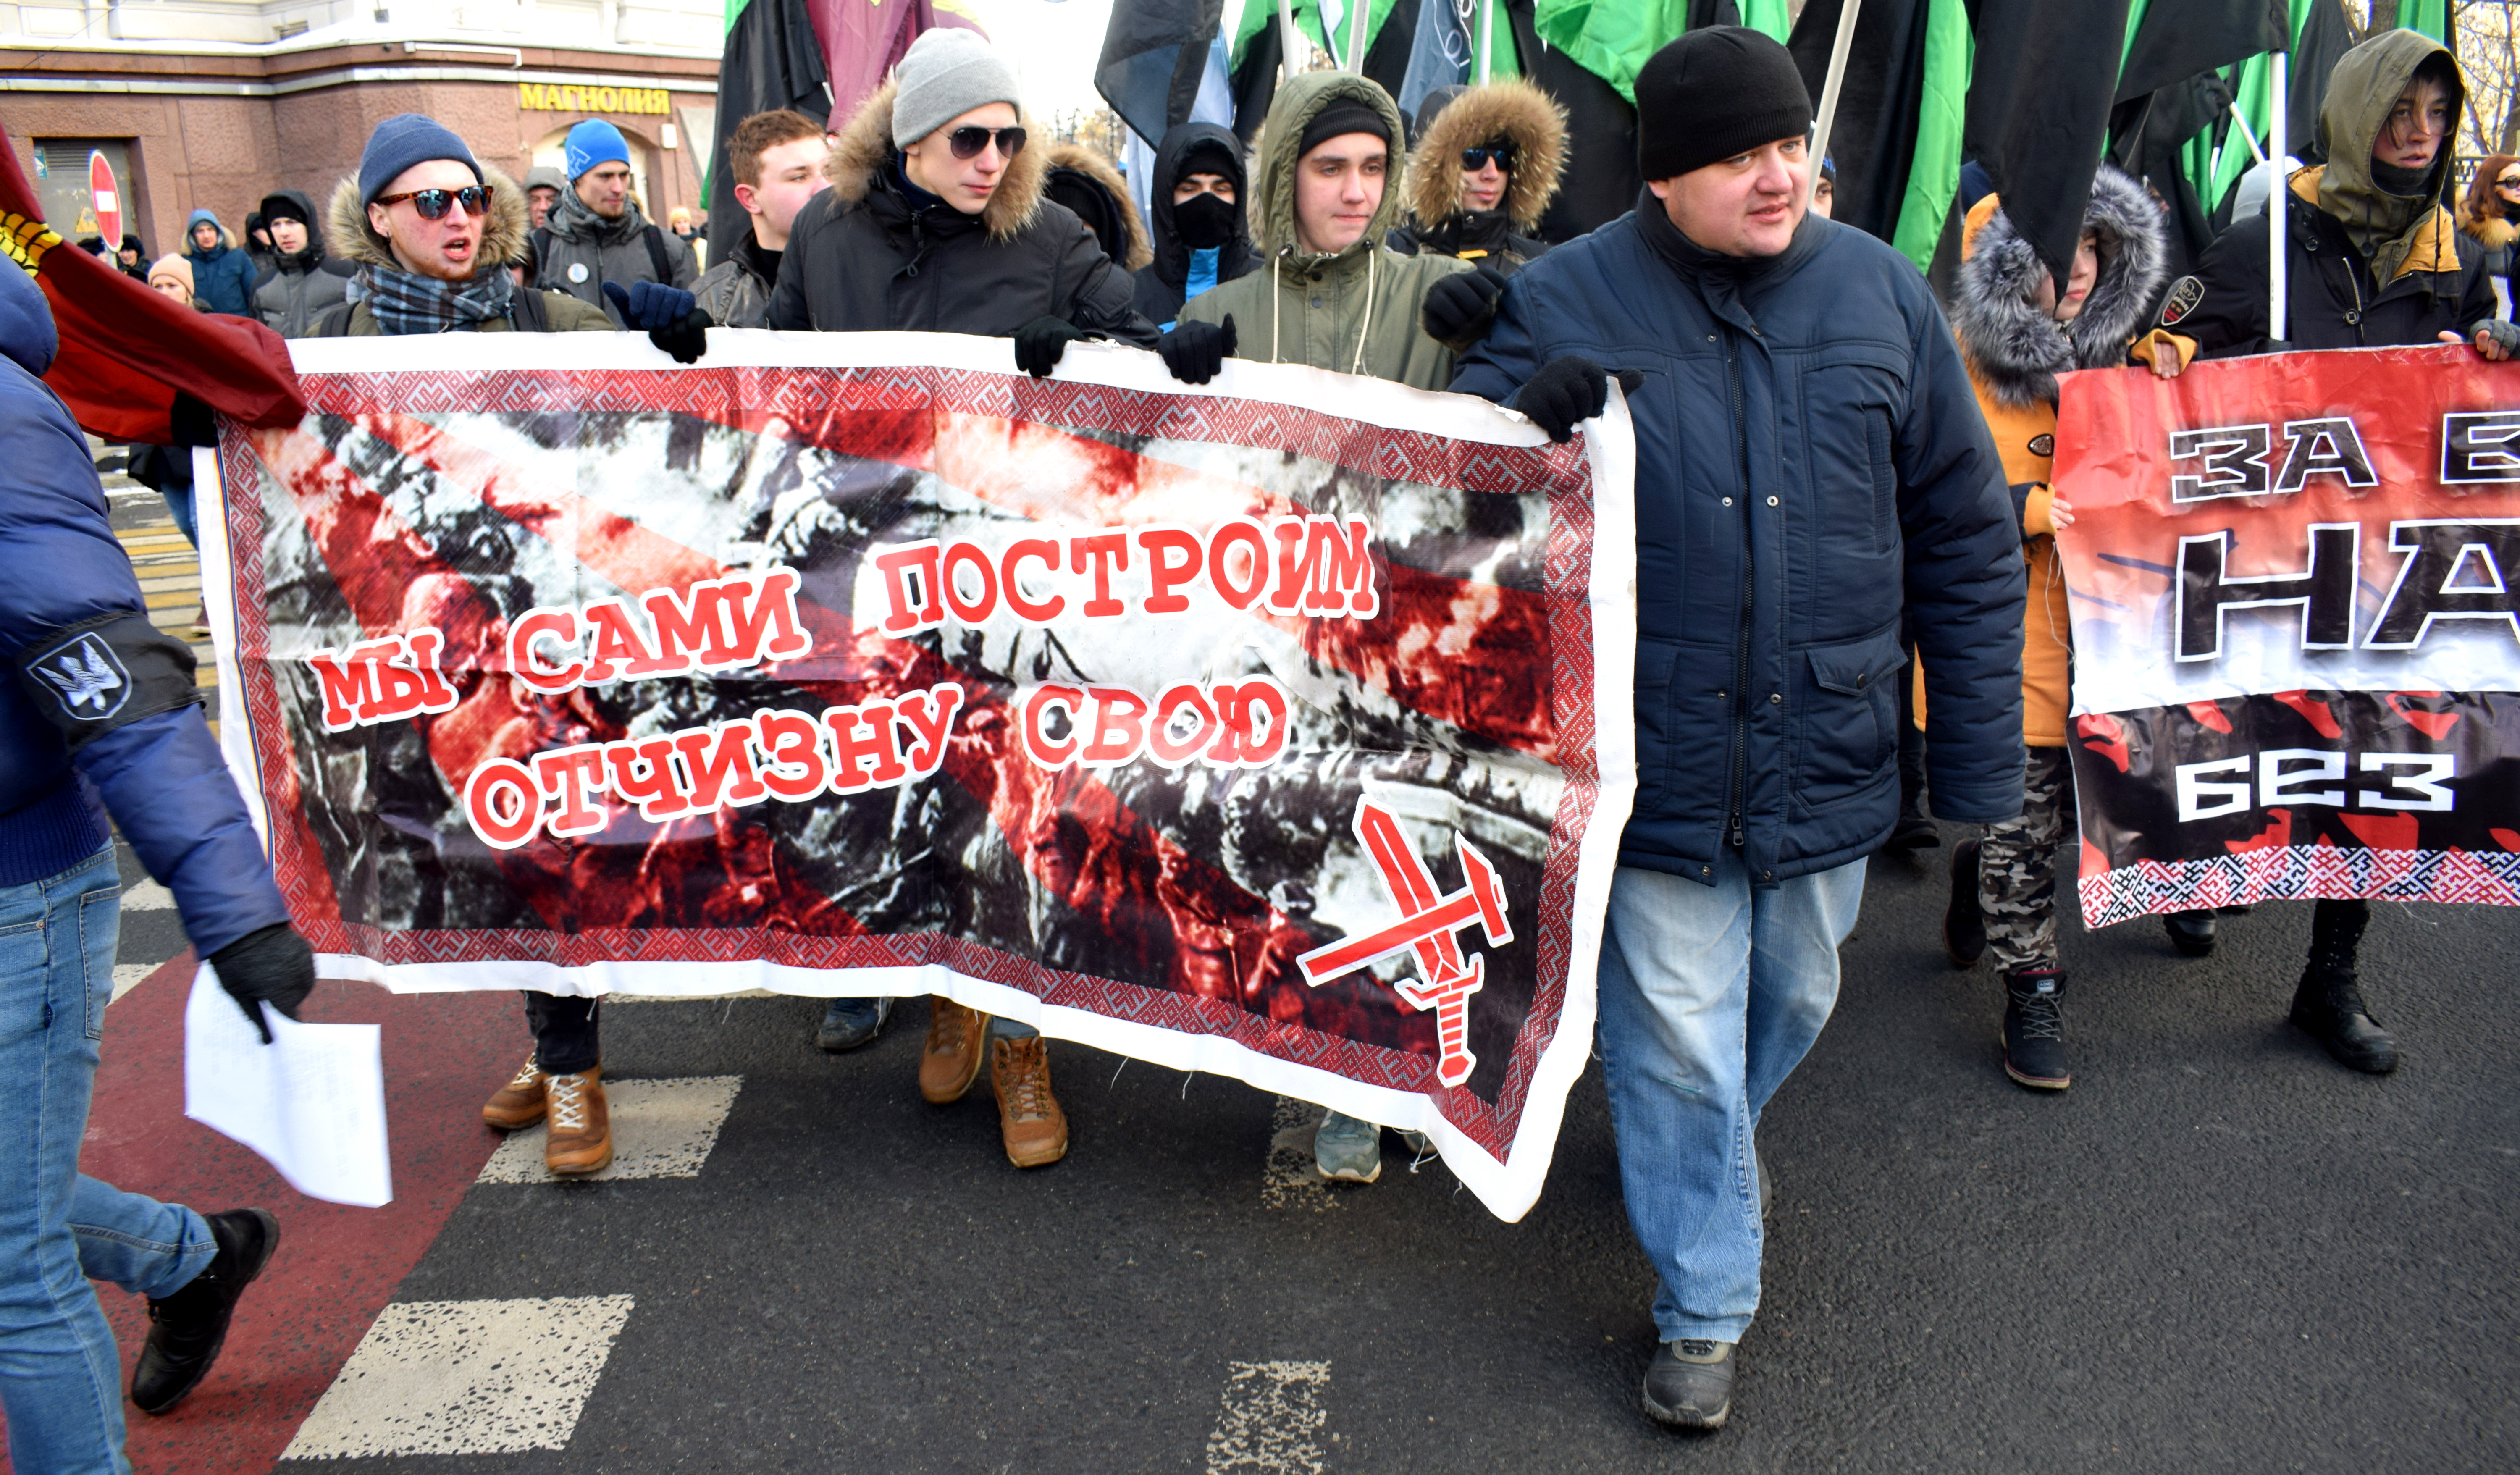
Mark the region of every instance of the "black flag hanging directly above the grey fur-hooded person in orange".
<instances>
[{"instance_id":1,"label":"black flag hanging directly above the grey fur-hooded person in orange","mask_svg":"<svg viewBox=\"0 0 2520 1475\"><path fill-rule=\"evenodd\" d=\"M2180 0L2165 10L2185 10ZM1870 5L1867 5L1870 10ZM2074 275L2092 174L2109 141L2127 0L1983 0L1968 151L2049 272ZM2177 78L2172 78L2177 81Z\"/></svg>"}]
</instances>

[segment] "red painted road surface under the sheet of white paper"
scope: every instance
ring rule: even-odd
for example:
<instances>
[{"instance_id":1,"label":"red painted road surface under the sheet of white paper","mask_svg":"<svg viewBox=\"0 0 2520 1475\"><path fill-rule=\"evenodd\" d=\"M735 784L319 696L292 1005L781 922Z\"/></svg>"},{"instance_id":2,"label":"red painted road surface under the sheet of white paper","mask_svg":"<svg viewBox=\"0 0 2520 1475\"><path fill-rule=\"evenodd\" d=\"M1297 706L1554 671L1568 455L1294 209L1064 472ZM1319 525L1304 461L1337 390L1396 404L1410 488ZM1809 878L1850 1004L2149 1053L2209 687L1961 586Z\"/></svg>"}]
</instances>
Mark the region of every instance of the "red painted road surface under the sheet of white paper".
<instances>
[{"instance_id":1,"label":"red painted road surface under the sheet of white paper","mask_svg":"<svg viewBox=\"0 0 2520 1475\"><path fill-rule=\"evenodd\" d=\"M333 1384L396 1286L446 1225L499 1145L481 1099L532 1049L514 993L386 993L320 983L310 1021L386 1026L393 1203L343 1208L300 1195L252 1150L184 1117L181 953L106 1011L103 1069L81 1167L116 1188L199 1210L262 1205L280 1256L255 1281L209 1379L171 1414L123 1404L141 1475L260 1475ZM98 1286L123 1351L123 1384L149 1331L146 1301ZM0 1470L8 1462L0 1457Z\"/></svg>"}]
</instances>

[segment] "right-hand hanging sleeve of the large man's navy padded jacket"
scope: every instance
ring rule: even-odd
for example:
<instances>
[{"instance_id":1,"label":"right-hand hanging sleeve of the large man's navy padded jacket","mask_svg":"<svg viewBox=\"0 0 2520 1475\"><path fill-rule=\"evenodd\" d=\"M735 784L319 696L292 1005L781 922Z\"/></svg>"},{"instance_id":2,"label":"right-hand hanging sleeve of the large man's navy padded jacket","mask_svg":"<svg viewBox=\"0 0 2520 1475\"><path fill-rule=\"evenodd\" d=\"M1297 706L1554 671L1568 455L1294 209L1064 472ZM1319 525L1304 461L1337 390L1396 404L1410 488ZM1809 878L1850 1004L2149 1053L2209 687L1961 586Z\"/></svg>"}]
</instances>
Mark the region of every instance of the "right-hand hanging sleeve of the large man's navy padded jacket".
<instances>
[{"instance_id":1,"label":"right-hand hanging sleeve of the large man's navy padded jacket","mask_svg":"<svg viewBox=\"0 0 2520 1475\"><path fill-rule=\"evenodd\" d=\"M2021 522L1961 348L1923 282L1915 292L1898 497L1925 661L1925 772L1938 819L1993 824L2021 814Z\"/></svg>"}]
</instances>

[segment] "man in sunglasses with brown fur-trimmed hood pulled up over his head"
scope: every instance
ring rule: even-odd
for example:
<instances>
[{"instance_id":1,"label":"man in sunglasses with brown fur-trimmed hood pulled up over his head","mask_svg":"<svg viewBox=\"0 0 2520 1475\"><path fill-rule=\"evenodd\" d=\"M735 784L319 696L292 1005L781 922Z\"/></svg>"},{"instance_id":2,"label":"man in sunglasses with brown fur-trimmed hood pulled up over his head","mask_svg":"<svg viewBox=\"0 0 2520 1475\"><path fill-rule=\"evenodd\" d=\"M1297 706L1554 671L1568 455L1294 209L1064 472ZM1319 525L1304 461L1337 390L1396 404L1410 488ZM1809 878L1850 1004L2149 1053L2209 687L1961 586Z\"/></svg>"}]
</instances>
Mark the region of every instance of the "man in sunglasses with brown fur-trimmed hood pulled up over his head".
<instances>
[{"instance_id":1,"label":"man in sunglasses with brown fur-trimmed hood pulled up over his head","mask_svg":"<svg viewBox=\"0 0 2520 1475\"><path fill-rule=\"evenodd\" d=\"M1565 161L1565 108L1530 81L1436 88L1419 108L1409 224L1391 232L1391 245L1509 277L1550 250L1535 232Z\"/></svg>"}]
</instances>

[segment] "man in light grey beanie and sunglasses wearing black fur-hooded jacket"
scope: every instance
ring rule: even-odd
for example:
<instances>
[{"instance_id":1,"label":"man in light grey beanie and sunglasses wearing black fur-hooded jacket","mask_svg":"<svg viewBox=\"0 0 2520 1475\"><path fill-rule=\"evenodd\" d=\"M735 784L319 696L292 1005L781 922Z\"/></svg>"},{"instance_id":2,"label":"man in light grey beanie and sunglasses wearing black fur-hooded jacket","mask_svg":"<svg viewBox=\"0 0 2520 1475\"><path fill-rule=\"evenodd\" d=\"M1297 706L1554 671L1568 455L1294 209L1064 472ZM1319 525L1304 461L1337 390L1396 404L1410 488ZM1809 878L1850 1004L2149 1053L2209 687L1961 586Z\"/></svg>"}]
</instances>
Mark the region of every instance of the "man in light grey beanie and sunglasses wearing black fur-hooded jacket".
<instances>
[{"instance_id":1,"label":"man in light grey beanie and sunglasses wearing black fur-hooded jacket","mask_svg":"<svg viewBox=\"0 0 2520 1475\"><path fill-rule=\"evenodd\" d=\"M832 189L789 229L771 328L1013 338L1046 376L1079 338L1154 348L1134 282L1043 197L1016 68L970 30L927 30L832 141Z\"/></svg>"}]
</instances>

